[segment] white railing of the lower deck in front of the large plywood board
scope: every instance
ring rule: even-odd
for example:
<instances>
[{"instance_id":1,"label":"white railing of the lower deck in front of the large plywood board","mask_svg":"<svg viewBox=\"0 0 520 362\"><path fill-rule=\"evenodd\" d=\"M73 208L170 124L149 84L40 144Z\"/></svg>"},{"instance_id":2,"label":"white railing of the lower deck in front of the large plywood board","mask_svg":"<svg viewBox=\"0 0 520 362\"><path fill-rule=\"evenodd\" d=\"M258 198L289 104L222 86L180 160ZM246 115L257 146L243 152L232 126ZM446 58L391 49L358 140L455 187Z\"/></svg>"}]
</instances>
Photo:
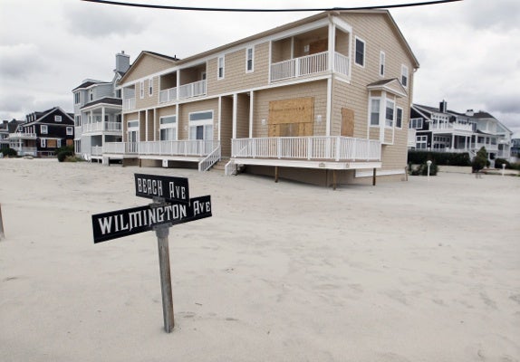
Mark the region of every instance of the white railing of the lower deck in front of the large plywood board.
<instances>
[{"instance_id":1,"label":"white railing of the lower deck in front of the large plywood board","mask_svg":"<svg viewBox=\"0 0 520 362\"><path fill-rule=\"evenodd\" d=\"M234 138L232 157L380 161L379 140L340 136Z\"/></svg>"}]
</instances>

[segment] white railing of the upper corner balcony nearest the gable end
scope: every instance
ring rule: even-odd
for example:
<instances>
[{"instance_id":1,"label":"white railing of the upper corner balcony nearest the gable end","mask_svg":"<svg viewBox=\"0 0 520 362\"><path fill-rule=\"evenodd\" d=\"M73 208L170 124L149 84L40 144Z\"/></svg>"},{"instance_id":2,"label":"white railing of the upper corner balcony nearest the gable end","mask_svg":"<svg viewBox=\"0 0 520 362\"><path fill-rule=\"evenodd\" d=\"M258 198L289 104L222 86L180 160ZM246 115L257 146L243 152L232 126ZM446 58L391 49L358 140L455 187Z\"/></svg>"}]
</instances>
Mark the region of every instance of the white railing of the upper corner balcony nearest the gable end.
<instances>
[{"instance_id":1,"label":"white railing of the upper corner balcony nearest the gable end","mask_svg":"<svg viewBox=\"0 0 520 362\"><path fill-rule=\"evenodd\" d=\"M318 52L271 64L271 81L283 81L329 70L329 52ZM335 52L333 70L350 75L350 58Z\"/></svg>"}]
</instances>

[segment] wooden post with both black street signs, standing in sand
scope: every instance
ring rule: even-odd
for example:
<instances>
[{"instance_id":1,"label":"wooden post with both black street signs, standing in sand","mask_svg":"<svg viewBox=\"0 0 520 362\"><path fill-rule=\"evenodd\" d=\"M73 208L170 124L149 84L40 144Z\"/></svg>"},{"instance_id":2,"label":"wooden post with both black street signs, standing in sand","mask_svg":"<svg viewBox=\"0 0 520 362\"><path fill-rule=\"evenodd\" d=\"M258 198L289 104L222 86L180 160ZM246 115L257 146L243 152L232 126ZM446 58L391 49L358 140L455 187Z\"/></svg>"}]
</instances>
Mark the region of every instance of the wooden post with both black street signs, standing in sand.
<instances>
[{"instance_id":1,"label":"wooden post with both black street signs, standing in sand","mask_svg":"<svg viewBox=\"0 0 520 362\"><path fill-rule=\"evenodd\" d=\"M211 196L189 198L188 178L135 174L136 195L152 198L147 206L92 215L94 243L155 231L159 249L160 290L164 329L174 327L171 274L169 270L169 228L210 217Z\"/></svg>"}]
</instances>

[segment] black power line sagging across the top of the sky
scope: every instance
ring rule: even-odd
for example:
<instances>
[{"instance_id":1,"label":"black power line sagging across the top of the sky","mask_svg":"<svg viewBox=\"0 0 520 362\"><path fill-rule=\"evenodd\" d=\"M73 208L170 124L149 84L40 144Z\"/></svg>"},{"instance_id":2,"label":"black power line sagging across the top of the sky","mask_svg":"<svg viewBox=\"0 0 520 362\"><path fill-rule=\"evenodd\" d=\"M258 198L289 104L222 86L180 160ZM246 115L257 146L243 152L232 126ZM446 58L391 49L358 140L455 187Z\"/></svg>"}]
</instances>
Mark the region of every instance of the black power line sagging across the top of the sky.
<instances>
[{"instance_id":1,"label":"black power line sagging across the top of the sky","mask_svg":"<svg viewBox=\"0 0 520 362\"><path fill-rule=\"evenodd\" d=\"M170 5L150 5L125 3L111 0L82 0L90 3L104 4L104 5L120 5L130 7L145 7L149 9L161 10L188 10L188 11L206 11L206 12L228 12L228 13L289 13L289 12L319 12L319 11L345 11L345 10L375 10L375 9L391 9L397 7L423 6L423 5L438 5L446 3L455 3L463 0L437 0L425 1L421 3L408 3L399 5L378 5L378 6L360 6L360 7L317 7L317 8L293 8L293 9L240 9L240 8L224 8L224 7L193 7L193 6L170 6Z\"/></svg>"}]
</instances>

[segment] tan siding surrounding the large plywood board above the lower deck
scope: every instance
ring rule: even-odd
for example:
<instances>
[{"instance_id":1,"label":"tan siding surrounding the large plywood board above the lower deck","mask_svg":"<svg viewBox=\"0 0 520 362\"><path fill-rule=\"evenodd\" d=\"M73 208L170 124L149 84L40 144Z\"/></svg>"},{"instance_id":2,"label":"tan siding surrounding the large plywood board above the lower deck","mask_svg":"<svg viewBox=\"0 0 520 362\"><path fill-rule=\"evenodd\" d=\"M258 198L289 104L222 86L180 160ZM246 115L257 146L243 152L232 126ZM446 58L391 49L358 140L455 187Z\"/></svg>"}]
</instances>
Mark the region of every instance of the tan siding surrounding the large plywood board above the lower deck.
<instances>
[{"instance_id":1,"label":"tan siding surrounding the large plywood board above the lower deck","mask_svg":"<svg viewBox=\"0 0 520 362\"><path fill-rule=\"evenodd\" d=\"M322 115L321 123L313 122L313 135L325 136L327 127L327 81L310 81L303 85L292 85L255 92L253 137L260 138L268 136L270 101L304 97L312 97L314 99L314 119L317 115ZM265 119L265 125L262 124L262 119Z\"/></svg>"}]
</instances>

